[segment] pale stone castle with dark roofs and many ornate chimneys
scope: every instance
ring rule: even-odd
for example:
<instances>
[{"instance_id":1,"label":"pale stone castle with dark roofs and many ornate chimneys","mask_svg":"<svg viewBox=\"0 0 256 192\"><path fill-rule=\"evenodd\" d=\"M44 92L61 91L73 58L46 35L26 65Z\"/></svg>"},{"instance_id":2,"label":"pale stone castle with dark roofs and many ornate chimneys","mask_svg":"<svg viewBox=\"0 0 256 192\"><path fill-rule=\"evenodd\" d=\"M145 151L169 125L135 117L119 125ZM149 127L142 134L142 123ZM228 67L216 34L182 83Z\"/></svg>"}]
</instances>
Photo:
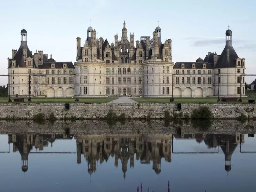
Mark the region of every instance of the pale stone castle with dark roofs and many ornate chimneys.
<instances>
[{"instance_id":1,"label":"pale stone castle with dark roofs and many ornate chimneys","mask_svg":"<svg viewBox=\"0 0 256 192\"><path fill-rule=\"evenodd\" d=\"M91 26L81 46L76 38L76 62L56 62L43 51L30 52L27 31L21 30L18 51L8 58L10 95L36 97L207 97L245 94L245 59L232 46L232 31L226 31L226 46L218 55L208 52L204 60L172 62L172 40L162 43L159 26L150 36L134 42L127 36L126 23L121 40L115 44L96 36ZM135 43L135 46L134 46ZM242 89L240 88L242 83Z\"/></svg>"}]
</instances>

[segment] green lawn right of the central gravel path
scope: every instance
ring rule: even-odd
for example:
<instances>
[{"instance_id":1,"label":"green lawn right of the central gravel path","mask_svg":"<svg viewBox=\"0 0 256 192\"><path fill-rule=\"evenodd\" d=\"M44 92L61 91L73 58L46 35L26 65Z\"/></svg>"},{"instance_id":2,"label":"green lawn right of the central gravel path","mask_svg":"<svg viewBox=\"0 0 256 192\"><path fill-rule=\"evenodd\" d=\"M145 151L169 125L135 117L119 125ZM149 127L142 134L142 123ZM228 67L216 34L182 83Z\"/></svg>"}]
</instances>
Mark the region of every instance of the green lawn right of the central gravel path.
<instances>
[{"instance_id":1,"label":"green lawn right of the central gravel path","mask_svg":"<svg viewBox=\"0 0 256 192\"><path fill-rule=\"evenodd\" d=\"M170 103L170 98L132 98L138 103ZM221 99L221 97L220 97ZM217 97L210 98L174 98L174 103L241 103L241 102L217 102ZM248 100L256 100L256 97L242 98L242 103L248 103Z\"/></svg>"}]
</instances>

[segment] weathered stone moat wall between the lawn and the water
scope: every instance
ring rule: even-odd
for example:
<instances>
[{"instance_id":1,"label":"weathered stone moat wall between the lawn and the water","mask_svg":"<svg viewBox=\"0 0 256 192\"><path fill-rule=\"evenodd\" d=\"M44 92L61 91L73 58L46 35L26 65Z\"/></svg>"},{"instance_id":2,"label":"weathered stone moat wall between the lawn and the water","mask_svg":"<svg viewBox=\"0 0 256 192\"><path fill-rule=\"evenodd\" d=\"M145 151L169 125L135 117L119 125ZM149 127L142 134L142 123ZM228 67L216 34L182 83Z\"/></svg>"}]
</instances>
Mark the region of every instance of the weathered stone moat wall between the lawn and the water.
<instances>
[{"instance_id":1,"label":"weathered stone moat wall between the lawn and the water","mask_svg":"<svg viewBox=\"0 0 256 192\"><path fill-rule=\"evenodd\" d=\"M104 119L110 112L122 119L165 119L190 118L194 109L206 106L212 112L212 119L256 118L255 104L178 104L168 103L6 103L0 104L0 119L32 119L44 114L44 118L56 119ZM110 116L111 117L111 116Z\"/></svg>"}]
</instances>

